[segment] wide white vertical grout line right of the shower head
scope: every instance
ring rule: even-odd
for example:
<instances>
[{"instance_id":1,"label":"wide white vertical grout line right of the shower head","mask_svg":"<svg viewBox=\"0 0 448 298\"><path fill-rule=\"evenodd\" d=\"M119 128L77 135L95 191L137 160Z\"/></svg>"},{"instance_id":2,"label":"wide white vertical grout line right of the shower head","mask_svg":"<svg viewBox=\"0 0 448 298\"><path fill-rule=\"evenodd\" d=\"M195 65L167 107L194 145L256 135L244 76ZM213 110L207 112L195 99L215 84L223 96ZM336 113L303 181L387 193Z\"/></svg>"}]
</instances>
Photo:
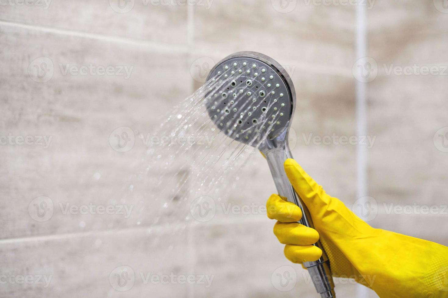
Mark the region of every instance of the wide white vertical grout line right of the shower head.
<instances>
[{"instance_id":1,"label":"wide white vertical grout line right of the shower head","mask_svg":"<svg viewBox=\"0 0 448 298\"><path fill-rule=\"evenodd\" d=\"M358 0L356 6L356 60L367 55L366 5ZM366 83L356 80L356 133L367 135ZM367 147L358 144L356 147L356 196L357 199L367 195ZM364 205L365 202L360 202ZM369 289L357 285L356 297L368 298Z\"/></svg>"}]
</instances>

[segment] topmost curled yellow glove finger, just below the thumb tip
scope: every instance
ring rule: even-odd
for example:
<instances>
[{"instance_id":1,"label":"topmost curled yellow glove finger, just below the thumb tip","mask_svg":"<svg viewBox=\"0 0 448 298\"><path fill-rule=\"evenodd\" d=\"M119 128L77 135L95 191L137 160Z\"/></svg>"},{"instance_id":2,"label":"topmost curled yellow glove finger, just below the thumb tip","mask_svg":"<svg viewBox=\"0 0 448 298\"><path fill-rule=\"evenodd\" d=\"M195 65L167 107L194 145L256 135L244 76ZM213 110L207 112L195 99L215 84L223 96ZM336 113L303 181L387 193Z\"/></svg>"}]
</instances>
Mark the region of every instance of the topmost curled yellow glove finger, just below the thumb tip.
<instances>
[{"instance_id":1,"label":"topmost curled yellow glove finger, just below the thumb tip","mask_svg":"<svg viewBox=\"0 0 448 298\"><path fill-rule=\"evenodd\" d=\"M302 218L302 210L277 194L272 194L266 203L267 217L280 222L297 222Z\"/></svg>"}]
</instances>

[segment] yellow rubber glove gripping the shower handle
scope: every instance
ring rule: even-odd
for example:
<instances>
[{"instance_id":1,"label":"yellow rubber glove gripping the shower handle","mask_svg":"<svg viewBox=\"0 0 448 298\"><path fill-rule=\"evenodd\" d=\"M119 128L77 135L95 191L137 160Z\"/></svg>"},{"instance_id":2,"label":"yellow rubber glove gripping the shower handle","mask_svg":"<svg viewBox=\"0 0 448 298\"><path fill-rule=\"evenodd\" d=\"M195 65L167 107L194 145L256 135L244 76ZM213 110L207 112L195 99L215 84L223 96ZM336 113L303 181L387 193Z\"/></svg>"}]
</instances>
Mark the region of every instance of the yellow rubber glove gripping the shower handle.
<instances>
[{"instance_id":1,"label":"yellow rubber glove gripping the shower handle","mask_svg":"<svg viewBox=\"0 0 448 298\"><path fill-rule=\"evenodd\" d=\"M267 214L278 220L274 234L286 244L284 254L289 260L318 260L322 251L310 244L320 235L334 277L354 278L381 298L448 297L447 247L374 229L339 199L327 195L293 159L286 160L284 168L317 230L295 222L302 218L299 207L271 195Z\"/></svg>"}]
</instances>

